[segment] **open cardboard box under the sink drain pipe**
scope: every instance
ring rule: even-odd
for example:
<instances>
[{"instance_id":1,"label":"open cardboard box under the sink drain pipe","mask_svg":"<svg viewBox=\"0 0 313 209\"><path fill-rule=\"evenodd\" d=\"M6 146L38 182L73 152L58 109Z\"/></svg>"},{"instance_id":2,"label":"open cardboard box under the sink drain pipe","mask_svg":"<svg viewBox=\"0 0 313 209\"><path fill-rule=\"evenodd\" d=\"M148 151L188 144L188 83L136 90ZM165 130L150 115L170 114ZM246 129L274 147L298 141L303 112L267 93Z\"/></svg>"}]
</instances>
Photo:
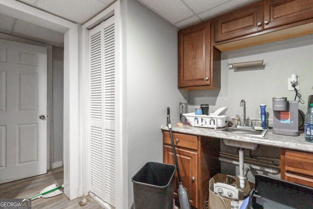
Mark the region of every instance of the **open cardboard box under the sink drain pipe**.
<instances>
[{"instance_id":1,"label":"open cardboard box under the sink drain pipe","mask_svg":"<svg viewBox=\"0 0 313 209\"><path fill-rule=\"evenodd\" d=\"M239 178L231 175L225 175L218 173L209 182L209 205L210 209L225 209L225 205L221 198L223 198L227 209L239 209L242 202L244 200L238 201L234 199L229 199L225 197L219 197L217 194L214 193L214 183L224 183L224 184L235 184L238 188L240 188ZM246 182L246 187L243 189L245 192L245 198L249 195L250 190L254 188L254 184L251 182Z\"/></svg>"}]
</instances>

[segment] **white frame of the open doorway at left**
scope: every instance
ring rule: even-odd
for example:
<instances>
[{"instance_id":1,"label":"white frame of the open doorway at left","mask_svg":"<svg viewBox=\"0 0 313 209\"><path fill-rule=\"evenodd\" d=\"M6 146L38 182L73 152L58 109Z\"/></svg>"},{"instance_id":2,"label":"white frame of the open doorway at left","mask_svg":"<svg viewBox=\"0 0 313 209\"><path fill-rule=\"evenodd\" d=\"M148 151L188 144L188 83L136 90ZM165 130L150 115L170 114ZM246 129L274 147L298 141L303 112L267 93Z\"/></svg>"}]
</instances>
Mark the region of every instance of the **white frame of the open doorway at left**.
<instances>
[{"instance_id":1,"label":"white frame of the open doorway at left","mask_svg":"<svg viewBox=\"0 0 313 209\"><path fill-rule=\"evenodd\" d=\"M75 199L83 195L79 110L81 69L78 60L80 26L15 0L0 0L0 13L64 33L64 193L70 200Z\"/></svg>"}]
</instances>

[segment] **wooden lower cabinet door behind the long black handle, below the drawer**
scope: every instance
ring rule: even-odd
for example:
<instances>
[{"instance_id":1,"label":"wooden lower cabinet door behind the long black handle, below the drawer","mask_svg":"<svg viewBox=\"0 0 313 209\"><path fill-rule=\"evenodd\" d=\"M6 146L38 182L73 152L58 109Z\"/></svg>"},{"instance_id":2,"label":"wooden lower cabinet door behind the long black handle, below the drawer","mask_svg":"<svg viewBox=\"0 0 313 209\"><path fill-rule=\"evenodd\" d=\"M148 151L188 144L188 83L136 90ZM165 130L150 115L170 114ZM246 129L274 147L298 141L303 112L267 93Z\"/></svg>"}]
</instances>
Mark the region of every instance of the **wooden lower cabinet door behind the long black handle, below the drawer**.
<instances>
[{"instance_id":1,"label":"wooden lower cabinet door behind the long black handle, below the drawer","mask_svg":"<svg viewBox=\"0 0 313 209\"><path fill-rule=\"evenodd\" d=\"M179 171L181 176L181 182L183 186L188 190L191 206L198 208L198 178L197 178L197 169L198 169L198 154L196 152L188 151L185 149L176 148L177 160L179 163ZM174 164L174 153L173 148L167 145L164 145L163 148L163 163ZM194 177L195 180L192 180ZM178 175L175 174L175 189L174 196L178 199L177 189L178 189Z\"/></svg>"}]
</instances>

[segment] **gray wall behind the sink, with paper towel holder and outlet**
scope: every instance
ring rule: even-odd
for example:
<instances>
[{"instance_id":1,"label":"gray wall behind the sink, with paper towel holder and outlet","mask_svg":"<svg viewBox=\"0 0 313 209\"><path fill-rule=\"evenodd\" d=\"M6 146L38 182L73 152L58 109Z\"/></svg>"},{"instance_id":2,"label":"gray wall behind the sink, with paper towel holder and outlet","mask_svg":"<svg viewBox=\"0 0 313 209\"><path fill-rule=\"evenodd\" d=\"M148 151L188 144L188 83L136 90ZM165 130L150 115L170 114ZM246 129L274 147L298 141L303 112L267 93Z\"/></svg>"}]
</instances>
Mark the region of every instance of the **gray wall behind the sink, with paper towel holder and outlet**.
<instances>
[{"instance_id":1,"label":"gray wall behind the sink, with paper towel holder and outlet","mask_svg":"<svg viewBox=\"0 0 313 209\"><path fill-rule=\"evenodd\" d=\"M308 96L313 94L313 35L253 46L222 53L221 90L190 92L190 112L200 104L210 104L210 112L222 106L228 113L243 115L240 100L246 100L246 115L260 118L259 104L267 104L269 119L273 118L272 97L285 96L293 100L294 91L288 91L287 79L297 73L304 105L299 109L306 113ZM228 70L227 63L264 59L265 67L246 70Z\"/></svg>"}]
</instances>

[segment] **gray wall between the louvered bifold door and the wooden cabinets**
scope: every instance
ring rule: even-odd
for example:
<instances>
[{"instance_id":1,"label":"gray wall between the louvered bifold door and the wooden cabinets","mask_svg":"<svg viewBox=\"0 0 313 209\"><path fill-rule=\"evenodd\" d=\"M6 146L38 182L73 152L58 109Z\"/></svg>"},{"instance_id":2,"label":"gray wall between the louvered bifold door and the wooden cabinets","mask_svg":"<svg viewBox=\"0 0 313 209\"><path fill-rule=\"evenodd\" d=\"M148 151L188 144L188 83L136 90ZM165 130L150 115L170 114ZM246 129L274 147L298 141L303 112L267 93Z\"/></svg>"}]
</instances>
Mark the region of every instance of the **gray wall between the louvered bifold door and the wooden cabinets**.
<instances>
[{"instance_id":1,"label":"gray wall between the louvered bifold door and the wooden cabinets","mask_svg":"<svg viewBox=\"0 0 313 209\"><path fill-rule=\"evenodd\" d=\"M133 175L149 161L162 162L166 108L179 120L177 31L138 1L127 1L128 208Z\"/></svg>"}]
</instances>

